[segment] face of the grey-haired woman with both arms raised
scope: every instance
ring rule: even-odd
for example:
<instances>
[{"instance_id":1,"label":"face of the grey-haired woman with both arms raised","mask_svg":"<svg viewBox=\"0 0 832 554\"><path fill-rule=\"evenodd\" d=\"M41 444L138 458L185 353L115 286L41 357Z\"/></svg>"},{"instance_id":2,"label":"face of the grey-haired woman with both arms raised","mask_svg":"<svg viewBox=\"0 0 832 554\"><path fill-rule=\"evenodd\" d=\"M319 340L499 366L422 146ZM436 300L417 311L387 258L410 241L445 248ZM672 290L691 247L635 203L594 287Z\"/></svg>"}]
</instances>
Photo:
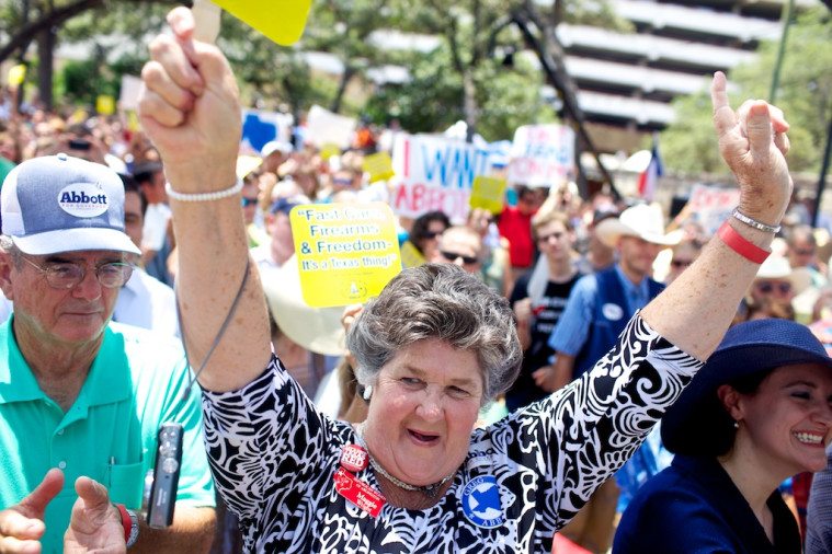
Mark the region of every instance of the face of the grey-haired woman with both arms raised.
<instances>
[{"instance_id":1,"label":"face of the grey-haired woman with both arms raised","mask_svg":"<svg viewBox=\"0 0 832 554\"><path fill-rule=\"evenodd\" d=\"M394 476L424 486L468 453L483 394L477 355L430 338L402 348L378 374L365 440Z\"/></svg>"}]
</instances>

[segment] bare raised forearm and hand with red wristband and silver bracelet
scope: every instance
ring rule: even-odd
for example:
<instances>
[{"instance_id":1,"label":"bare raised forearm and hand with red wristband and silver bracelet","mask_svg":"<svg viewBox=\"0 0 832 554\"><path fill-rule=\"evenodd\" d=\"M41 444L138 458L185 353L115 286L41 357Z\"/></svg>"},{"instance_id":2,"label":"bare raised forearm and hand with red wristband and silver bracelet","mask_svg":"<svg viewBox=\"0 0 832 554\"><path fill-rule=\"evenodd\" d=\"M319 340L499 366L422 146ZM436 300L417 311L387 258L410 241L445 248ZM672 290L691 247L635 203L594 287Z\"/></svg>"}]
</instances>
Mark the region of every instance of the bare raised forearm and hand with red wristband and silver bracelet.
<instances>
[{"instance_id":1,"label":"bare raised forearm and hand with red wristband and silver bracelet","mask_svg":"<svg viewBox=\"0 0 832 554\"><path fill-rule=\"evenodd\" d=\"M714 76L711 101L719 150L740 186L739 210L762 223L778 226L791 195L784 158L788 125L783 114L764 101L748 101L734 113L728 105L721 72ZM745 241L768 250L774 233L729 219L728 224ZM641 315L679 348L704 360L721 341L759 267L715 236Z\"/></svg>"}]
</instances>

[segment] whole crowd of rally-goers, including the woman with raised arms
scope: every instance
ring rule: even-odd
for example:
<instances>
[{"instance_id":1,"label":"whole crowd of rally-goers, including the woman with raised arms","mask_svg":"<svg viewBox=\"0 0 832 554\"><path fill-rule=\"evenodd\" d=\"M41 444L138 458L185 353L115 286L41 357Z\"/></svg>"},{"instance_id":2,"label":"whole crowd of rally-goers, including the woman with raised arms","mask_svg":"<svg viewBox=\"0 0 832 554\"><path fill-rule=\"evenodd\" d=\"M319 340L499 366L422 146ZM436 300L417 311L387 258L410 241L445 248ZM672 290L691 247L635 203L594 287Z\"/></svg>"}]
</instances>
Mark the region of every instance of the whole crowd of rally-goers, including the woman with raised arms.
<instances>
[{"instance_id":1,"label":"whole crowd of rally-goers, including the woman with raised arms","mask_svg":"<svg viewBox=\"0 0 832 554\"><path fill-rule=\"evenodd\" d=\"M378 140L241 152L227 61L169 22L140 129L2 112L0 552L832 552L832 243L776 107L714 78L714 236L512 183L398 218L380 296L311 308L289 215L384 198Z\"/></svg>"}]
</instances>

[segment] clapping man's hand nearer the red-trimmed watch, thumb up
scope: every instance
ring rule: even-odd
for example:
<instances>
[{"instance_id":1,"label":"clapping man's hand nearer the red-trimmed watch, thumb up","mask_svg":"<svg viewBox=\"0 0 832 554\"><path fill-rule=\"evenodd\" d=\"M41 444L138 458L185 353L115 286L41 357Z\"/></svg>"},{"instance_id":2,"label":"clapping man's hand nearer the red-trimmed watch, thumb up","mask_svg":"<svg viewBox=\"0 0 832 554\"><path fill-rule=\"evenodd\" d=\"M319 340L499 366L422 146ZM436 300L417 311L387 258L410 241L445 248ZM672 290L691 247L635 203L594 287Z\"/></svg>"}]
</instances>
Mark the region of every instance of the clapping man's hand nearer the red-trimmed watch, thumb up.
<instances>
[{"instance_id":1,"label":"clapping man's hand nearer the red-trimmed watch, thumb up","mask_svg":"<svg viewBox=\"0 0 832 554\"><path fill-rule=\"evenodd\" d=\"M64 553L116 554L127 552L118 508L110 504L103 485L89 477L76 481L78 500L64 534Z\"/></svg>"}]
</instances>

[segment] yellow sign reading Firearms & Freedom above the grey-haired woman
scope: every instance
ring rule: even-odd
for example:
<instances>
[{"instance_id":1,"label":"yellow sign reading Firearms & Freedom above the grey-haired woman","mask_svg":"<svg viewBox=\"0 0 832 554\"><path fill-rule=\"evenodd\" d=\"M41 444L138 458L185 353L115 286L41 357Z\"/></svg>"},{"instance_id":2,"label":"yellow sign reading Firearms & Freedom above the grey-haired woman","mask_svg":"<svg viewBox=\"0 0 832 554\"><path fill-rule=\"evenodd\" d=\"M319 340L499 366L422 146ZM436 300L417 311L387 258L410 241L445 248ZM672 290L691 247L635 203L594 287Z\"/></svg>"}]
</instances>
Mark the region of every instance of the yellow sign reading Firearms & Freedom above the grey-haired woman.
<instances>
[{"instance_id":1,"label":"yellow sign reading Firearms & Freedom above the grey-haired woman","mask_svg":"<svg viewBox=\"0 0 832 554\"><path fill-rule=\"evenodd\" d=\"M311 307L365 302L401 270L394 215L384 203L297 206L289 220L300 290Z\"/></svg>"}]
</instances>

